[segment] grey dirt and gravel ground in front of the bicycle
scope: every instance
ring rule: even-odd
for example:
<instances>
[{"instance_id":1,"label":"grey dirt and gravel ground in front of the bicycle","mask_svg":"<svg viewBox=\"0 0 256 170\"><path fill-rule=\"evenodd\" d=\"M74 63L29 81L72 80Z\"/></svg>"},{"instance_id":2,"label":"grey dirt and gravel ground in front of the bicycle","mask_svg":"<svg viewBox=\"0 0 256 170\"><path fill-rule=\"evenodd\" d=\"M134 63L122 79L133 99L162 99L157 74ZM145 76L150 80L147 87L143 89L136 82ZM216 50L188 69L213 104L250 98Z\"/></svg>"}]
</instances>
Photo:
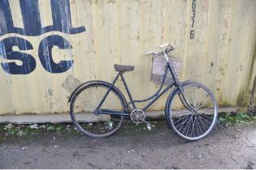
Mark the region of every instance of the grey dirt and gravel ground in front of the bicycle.
<instances>
[{"instance_id":1,"label":"grey dirt and gravel ground in front of the bicycle","mask_svg":"<svg viewBox=\"0 0 256 170\"><path fill-rule=\"evenodd\" d=\"M256 168L256 125L217 125L186 142L154 123L125 125L110 138L47 133L0 143L0 168Z\"/></svg>"}]
</instances>

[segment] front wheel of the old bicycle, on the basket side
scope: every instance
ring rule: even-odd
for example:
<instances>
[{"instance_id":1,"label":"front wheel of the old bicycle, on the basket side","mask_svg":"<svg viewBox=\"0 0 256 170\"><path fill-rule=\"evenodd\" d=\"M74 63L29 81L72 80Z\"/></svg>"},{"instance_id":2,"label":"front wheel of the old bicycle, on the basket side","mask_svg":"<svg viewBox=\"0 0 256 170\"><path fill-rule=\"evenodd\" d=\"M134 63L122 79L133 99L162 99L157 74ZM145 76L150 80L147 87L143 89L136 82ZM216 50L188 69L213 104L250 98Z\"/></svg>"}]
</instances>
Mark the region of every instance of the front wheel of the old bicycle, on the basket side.
<instances>
[{"instance_id":1,"label":"front wheel of the old bicycle, on the basket side","mask_svg":"<svg viewBox=\"0 0 256 170\"><path fill-rule=\"evenodd\" d=\"M177 90L168 104L167 121L181 138L199 140L214 128L218 104L210 90L200 83L188 83L182 89L185 99L193 109L185 104L180 90Z\"/></svg>"}]
</instances>

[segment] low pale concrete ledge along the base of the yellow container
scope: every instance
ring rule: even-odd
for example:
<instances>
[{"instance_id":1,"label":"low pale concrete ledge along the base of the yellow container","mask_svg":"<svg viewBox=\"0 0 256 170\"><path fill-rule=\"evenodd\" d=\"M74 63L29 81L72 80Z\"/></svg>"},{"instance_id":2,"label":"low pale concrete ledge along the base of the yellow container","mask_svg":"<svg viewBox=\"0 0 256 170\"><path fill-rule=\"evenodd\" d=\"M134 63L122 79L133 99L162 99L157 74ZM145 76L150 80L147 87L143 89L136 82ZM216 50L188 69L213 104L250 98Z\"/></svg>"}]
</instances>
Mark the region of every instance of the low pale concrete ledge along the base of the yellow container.
<instances>
[{"instance_id":1,"label":"low pale concrete ledge along the base of the yellow container","mask_svg":"<svg viewBox=\"0 0 256 170\"><path fill-rule=\"evenodd\" d=\"M236 112L239 107L219 108L219 113ZM164 117L164 111L150 111L145 113L148 118ZM0 123L32 124L32 123L65 123L72 122L69 114L47 114L47 115L2 115Z\"/></svg>"}]
</instances>

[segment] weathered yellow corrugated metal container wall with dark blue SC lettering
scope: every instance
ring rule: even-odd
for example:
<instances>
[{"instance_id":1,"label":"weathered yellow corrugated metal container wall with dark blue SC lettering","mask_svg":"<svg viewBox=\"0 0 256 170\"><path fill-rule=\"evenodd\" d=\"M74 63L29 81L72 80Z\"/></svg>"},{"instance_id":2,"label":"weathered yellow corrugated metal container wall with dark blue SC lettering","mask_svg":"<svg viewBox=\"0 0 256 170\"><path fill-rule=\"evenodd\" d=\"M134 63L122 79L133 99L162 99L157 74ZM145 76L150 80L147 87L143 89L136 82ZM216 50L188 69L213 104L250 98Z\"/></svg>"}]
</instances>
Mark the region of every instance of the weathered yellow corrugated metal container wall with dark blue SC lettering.
<instances>
[{"instance_id":1,"label":"weathered yellow corrugated metal container wall with dark blue SC lettering","mask_svg":"<svg viewBox=\"0 0 256 170\"><path fill-rule=\"evenodd\" d=\"M143 53L165 42L183 60L182 80L205 83L221 106L247 106L255 16L255 0L2 0L0 114L67 113L72 89L111 81L115 63L135 66L124 76L136 99L150 96L158 86Z\"/></svg>"}]
</instances>

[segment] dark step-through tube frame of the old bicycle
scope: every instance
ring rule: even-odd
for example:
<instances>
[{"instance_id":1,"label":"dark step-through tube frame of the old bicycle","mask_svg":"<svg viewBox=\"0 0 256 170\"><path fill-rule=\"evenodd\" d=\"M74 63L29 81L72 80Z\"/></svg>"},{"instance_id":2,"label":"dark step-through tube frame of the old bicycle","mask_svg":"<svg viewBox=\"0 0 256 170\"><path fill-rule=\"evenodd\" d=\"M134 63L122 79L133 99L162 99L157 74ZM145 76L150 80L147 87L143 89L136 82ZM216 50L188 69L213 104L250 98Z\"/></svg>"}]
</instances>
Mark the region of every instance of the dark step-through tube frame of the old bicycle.
<instances>
[{"instance_id":1,"label":"dark step-through tube frame of the old bicycle","mask_svg":"<svg viewBox=\"0 0 256 170\"><path fill-rule=\"evenodd\" d=\"M162 88L163 88L164 81L165 81L165 79L166 79L166 77L167 77L167 71L168 71L168 70L170 70L170 72L171 72L173 81L171 81L171 82L167 85L167 87L166 87L163 91L161 91ZM128 97L129 97L129 100L130 100L130 102L128 102L128 105L129 105L129 104L132 104L132 107L133 107L133 108L137 108L135 103L138 103L138 102L145 102L145 101L150 100L150 102L149 102L148 104L146 104L144 108L142 108L143 111L145 111L147 108L149 108L149 107L151 106L151 104L154 104L154 102L155 102L156 100L158 100L161 96L163 96L163 94L164 94L166 91L168 91L173 85L175 85L176 87L181 88L181 87L180 87L179 80L178 80L178 78L177 78L177 76L176 76L176 74L175 74L175 72L174 72L174 70L173 70L173 68L172 68L172 66L171 66L171 64L170 64L170 62L167 62L167 65L166 65L166 68L165 68L165 72L164 72L164 75L163 75L163 79L162 79L162 83L161 83L161 86L158 88L158 91L156 91L152 96L150 96L150 97L148 97L148 98L146 98L146 99L144 99L144 100L133 100L133 99L132 99L132 94L131 94L131 92L130 92L130 90L129 90L129 88L128 88L128 85L127 85L127 83L126 83L126 81L125 81L125 79L124 79L123 72L120 71L120 72L116 75L115 79L114 79L113 82L111 83L111 87L106 91L106 93L105 93L105 95L103 96L102 100L101 100L100 103L98 104L98 107L94 110L93 113L96 113L96 114L115 114L115 115L126 115L126 116L129 115L128 113L117 113L117 112L111 111L111 110L99 109L99 108L102 106L103 102L106 100L106 96L109 94L109 92L111 91L112 87L115 85L115 82L117 81L117 79L119 78L119 76L121 77L121 79L122 79L122 81L123 81L123 83L124 83L125 90L126 90L127 93L128 93ZM160 92L160 91L161 91L161 92ZM186 102L185 102L185 103L186 103Z\"/></svg>"}]
</instances>

